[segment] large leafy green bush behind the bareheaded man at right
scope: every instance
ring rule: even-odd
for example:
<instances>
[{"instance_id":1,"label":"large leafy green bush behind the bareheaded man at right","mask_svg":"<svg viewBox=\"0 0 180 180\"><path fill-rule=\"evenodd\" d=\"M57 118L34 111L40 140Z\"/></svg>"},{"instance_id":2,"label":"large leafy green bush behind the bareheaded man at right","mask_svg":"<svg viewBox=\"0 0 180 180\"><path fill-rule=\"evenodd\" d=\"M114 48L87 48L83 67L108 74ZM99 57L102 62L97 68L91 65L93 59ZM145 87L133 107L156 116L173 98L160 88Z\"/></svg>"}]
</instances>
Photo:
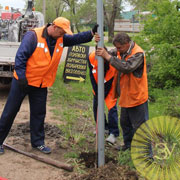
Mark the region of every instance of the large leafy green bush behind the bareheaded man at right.
<instances>
[{"instance_id":1,"label":"large leafy green bush behind the bareheaded man at right","mask_svg":"<svg viewBox=\"0 0 180 180\"><path fill-rule=\"evenodd\" d=\"M155 15L144 21L143 35L148 42L149 86L171 88L180 85L180 12L177 1L163 0L149 6Z\"/></svg>"}]
</instances>

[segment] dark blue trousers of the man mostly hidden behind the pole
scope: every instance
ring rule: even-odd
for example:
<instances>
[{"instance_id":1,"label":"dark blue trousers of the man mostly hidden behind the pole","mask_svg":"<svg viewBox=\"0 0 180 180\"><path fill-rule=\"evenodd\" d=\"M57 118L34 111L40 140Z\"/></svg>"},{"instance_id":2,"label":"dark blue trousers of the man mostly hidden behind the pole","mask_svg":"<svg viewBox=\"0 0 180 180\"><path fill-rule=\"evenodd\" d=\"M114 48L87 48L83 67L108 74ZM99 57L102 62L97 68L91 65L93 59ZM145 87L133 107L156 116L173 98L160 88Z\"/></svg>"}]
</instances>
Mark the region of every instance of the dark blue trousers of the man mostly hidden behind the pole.
<instances>
[{"instance_id":1,"label":"dark blue trousers of the man mostly hidden behind the pole","mask_svg":"<svg viewBox=\"0 0 180 180\"><path fill-rule=\"evenodd\" d=\"M93 113L95 122L97 121L97 99L93 98ZM108 122L106 120L106 115L104 114L104 123L105 129L109 130L109 134L114 134L115 137L119 136L119 128L118 128L118 112L117 106L115 105L108 111Z\"/></svg>"}]
</instances>

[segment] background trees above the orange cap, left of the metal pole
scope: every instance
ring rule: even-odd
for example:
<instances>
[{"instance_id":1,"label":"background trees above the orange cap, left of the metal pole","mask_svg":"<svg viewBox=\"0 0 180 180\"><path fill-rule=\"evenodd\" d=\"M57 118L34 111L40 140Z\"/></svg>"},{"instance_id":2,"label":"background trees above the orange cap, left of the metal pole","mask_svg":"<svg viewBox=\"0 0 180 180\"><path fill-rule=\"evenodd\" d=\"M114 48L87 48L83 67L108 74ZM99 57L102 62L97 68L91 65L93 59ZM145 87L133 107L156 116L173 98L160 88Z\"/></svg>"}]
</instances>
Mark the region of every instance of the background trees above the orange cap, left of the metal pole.
<instances>
[{"instance_id":1,"label":"background trees above the orange cap, left of the metal pole","mask_svg":"<svg viewBox=\"0 0 180 180\"><path fill-rule=\"evenodd\" d=\"M74 27L79 30L80 19L88 17L88 15L93 14L92 11L87 11L91 7L92 1L95 0L46 0L46 22L52 22L58 16L67 17L71 22L72 31L74 32ZM86 5L90 5L89 7ZM84 6L85 5L85 6ZM82 8L81 8L82 7ZM86 7L86 10L84 10ZM42 12L43 0L35 1L35 9ZM94 9L94 8L92 8ZM81 13L86 12L86 13Z\"/></svg>"}]
</instances>

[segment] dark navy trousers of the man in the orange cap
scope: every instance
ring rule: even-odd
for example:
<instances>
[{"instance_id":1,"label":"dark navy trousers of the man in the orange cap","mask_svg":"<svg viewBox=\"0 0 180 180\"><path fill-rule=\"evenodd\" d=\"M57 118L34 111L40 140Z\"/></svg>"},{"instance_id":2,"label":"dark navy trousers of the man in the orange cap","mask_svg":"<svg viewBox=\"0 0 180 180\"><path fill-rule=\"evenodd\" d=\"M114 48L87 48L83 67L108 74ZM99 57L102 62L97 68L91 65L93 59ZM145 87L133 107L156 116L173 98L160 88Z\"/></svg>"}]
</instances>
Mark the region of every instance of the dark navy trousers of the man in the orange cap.
<instances>
[{"instance_id":1,"label":"dark navy trousers of the man in the orange cap","mask_svg":"<svg viewBox=\"0 0 180 180\"><path fill-rule=\"evenodd\" d=\"M24 92L19 88L17 80L13 78L8 99L0 119L0 145L3 144L7 137L26 95L29 97L30 104L31 144L33 147L44 144L47 88L28 86L26 92Z\"/></svg>"}]
</instances>

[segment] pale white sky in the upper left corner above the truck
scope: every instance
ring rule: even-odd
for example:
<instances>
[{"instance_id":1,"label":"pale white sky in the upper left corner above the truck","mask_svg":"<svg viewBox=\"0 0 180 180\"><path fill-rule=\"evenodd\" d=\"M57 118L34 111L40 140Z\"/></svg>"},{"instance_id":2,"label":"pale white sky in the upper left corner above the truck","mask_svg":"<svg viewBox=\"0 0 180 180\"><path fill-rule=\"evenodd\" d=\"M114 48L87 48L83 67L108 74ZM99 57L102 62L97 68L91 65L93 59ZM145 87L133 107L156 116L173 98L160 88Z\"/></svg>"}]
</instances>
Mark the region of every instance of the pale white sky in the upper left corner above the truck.
<instances>
[{"instance_id":1,"label":"pale white sky in the upper left corner above the truck","mask_svg":"<svg viewBox=\"0 0 180 180\"><path fill-rule=\"evenodd\" d=\"M0 0L0 4L1 6L3 6L3 9L5 8L5 6L23 9L25 6L25 2L26 0Z\"/></svg>"}]
</instances>

